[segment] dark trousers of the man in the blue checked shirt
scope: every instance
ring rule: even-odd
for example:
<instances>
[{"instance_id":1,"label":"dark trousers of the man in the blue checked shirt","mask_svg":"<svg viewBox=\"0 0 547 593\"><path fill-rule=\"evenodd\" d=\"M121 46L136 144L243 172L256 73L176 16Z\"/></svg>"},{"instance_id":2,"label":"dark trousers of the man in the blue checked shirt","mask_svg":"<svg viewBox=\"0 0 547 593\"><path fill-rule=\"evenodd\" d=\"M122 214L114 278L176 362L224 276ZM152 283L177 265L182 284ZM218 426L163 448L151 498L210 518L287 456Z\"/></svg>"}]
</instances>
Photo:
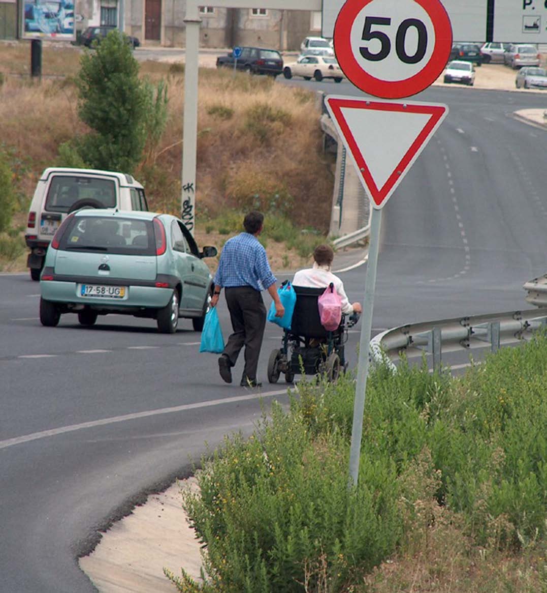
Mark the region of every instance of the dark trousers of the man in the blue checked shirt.
<instances>
[{"instance_id":1,"label":"dark trousers of the man in the blue checked shirt","mask_svg":"<svg viewBox=\"0 0 547 593\"><path fill-rule=\"evenodd\" d=\"M240 350L245 346L243 380L256 380L258 357L266 327L266 307L262 294L252 286L233 286L225 289L233 333L228 338L223 354L234 366Z\"/></svg>"}]
</instances>

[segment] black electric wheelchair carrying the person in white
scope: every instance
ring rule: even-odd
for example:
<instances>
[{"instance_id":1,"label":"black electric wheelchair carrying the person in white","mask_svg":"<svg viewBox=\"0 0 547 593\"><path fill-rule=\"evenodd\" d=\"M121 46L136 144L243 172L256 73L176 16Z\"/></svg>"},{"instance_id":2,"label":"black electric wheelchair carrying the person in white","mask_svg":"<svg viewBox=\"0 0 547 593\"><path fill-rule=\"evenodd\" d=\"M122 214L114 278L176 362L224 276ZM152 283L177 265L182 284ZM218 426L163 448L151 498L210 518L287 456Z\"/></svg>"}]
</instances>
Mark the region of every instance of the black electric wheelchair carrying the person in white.
<instances>
[{"instance_id":1,"label":"black electric wheelchair carrying the person in white","mask_svg":"<svg viewBox=\"0 0 547 593\"><path fill-rule=\"evenodd\" d=\"M327 331L321 325L317 298L324 288L292 286L297 295L291 329L283 330L281 348L272 350L268 359L268 381L276 383L279 375L292 383L294 375L326 375L336 381L340 371L345 371L347 362L344 345L347 329L359 320L359 314L342 315L338 329Z\"/></svg>"}]
</instances>

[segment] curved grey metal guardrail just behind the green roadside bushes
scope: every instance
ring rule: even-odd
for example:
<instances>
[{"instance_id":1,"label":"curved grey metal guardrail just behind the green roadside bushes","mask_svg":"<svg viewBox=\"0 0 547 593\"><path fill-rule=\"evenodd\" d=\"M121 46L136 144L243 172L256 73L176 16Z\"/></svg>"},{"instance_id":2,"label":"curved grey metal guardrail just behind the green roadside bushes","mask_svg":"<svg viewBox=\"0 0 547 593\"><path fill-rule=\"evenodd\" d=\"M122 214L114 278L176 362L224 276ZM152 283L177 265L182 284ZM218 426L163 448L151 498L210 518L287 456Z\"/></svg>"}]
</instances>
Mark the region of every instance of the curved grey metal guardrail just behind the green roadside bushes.
<instances>
[{"instance_id":1,"label":"curved grey metal guardrail just behind the green roadside bushes","mask_svg":"<svg viewBox=\"0 0 547 593\"><path fill-rule=\"evenodd\" d=\"M371 362L393 361L400 353L427 352L433 368L440 368L443 352L484 347L492 352L515 341L526 340L533 331L547 327L547 307L471 317L456 317L395 327L375 336L370 343Z\"/></svg>"}]
</instances>

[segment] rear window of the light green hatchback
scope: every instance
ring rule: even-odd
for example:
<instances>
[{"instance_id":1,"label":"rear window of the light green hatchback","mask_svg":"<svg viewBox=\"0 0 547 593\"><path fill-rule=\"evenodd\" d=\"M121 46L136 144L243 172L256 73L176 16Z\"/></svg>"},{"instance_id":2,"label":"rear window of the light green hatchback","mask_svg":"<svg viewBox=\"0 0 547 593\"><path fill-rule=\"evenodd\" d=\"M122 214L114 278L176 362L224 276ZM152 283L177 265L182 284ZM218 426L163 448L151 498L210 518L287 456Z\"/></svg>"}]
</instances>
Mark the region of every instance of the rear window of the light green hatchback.
<instances>
[{"instance_id":1,"label":"rear window of the light green hatchback","mask_svg":"<svg viewBox=\"0 0 547 593\"><path fill-rule=\"evenodd\" d=\"M75 216L59 248L66 251L153 256L156 240L152 221L113 216Z\"/></svg>"}]
</instances>

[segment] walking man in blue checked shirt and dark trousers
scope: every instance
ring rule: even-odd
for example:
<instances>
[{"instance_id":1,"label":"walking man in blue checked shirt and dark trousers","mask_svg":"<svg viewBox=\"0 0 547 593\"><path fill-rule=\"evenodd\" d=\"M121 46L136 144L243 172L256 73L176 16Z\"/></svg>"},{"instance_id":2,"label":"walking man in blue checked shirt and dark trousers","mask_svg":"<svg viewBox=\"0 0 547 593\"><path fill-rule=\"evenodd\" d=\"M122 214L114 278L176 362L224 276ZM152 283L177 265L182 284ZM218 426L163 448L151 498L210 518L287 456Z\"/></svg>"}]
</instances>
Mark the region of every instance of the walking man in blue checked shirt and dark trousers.
<instances>
[{"instance_id":1,"label":"walking man in blue checked shirt and dark trousers","mask_svg":"<svg viewBox=\"0 0 547 593\"><path fill-rule=\"evenodd\" d=\"M237 356L245 346L245 367L240 382L242 387L262 385L256 380L266 327L266 307L260 293L263 290L269 292L275 302L276 317L283 317L285 313L266 250L257 238L262 232L263 222L264 215L261 212L249 212L243 220L245 232L226 241L220 254L211 299L211 305L216 307L220 291L224 288L233 329L218 359L218 371L224 381L231 383L231 367L236 364Z\"/></svg>"}]
</instances>

